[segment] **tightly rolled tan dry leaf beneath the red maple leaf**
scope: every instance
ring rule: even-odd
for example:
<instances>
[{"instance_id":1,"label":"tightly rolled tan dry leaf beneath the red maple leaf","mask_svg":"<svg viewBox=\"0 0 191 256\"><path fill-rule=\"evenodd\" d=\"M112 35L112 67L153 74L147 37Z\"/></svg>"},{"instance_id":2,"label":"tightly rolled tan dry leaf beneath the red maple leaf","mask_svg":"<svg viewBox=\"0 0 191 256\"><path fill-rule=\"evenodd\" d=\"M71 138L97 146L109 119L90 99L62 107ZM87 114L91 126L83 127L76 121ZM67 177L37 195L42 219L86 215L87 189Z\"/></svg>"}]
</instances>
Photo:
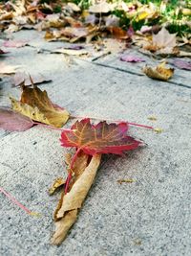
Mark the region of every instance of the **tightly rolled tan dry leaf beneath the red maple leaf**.
<instances>
[{"instance_id":1,"label":"tightly rolled tan dry leaf beneath the red maple leaf","mask_svg":"<svg viewBox=\"0 0 191 256\"><path fill-rule=\"evenodd\" d=\"M88 155L80 154L74 164L74 184L71 190L60 199L54 214L55 231L52 237L52 244L61 244L66 238L69 229L77 218L77 213L86 198L96 176L100 164L101 154L92 157L88 164Z\"/></svg>"}]
</instances>

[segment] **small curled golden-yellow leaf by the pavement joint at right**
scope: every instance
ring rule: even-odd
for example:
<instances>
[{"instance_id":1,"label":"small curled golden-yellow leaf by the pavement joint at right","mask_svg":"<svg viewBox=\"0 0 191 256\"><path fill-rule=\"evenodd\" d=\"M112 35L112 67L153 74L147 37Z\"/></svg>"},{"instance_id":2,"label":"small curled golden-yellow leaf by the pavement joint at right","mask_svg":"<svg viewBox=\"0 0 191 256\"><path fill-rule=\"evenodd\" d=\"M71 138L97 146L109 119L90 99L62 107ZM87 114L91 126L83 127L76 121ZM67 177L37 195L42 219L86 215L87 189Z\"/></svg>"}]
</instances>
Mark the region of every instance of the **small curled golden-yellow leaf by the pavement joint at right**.
<instances>
[{"instance_id":1,"label":"small curled golden-yellow leaf by the pavement joint at right","mask_svg":"<svg viewBox=\"0 0 191 256\"><path fill-rule=\"evenodd\" d=\"M166 68L165 62L159 64L157 67L145 66L142 68L147 77L160 81L168 81L174 74L174 68Z\"/></svg>"}]
</instances>

